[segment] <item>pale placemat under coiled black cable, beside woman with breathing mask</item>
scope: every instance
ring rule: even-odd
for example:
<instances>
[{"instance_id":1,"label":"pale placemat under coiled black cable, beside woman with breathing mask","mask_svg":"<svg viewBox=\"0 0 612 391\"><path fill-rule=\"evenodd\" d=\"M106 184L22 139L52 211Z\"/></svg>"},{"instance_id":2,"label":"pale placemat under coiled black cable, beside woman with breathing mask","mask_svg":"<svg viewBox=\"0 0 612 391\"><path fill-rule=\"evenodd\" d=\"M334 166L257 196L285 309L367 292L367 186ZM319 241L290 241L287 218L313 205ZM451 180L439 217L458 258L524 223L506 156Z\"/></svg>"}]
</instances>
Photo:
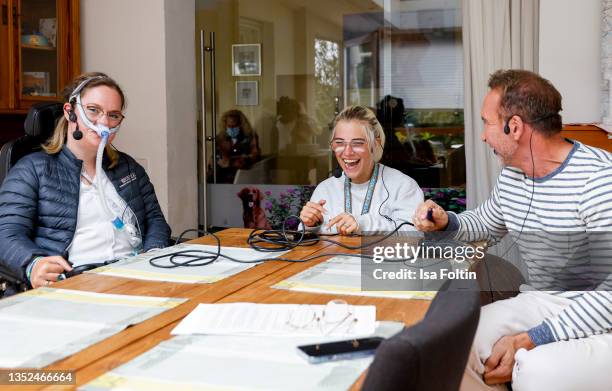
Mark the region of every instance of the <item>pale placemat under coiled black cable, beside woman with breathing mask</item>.
<instances>
[{"instance_id":1,"label":"pale placemat under coiled black cable, beside woman with breathing mask","mask_svg":"<svg viewBox=\"0 0 612 391\"><path fill-rule=\"evenodd\" d=\"M127 258L111 265L91 270L89 273L148 281L209 284L238 274L241 271L247 270L258 264L257 262L253 261L278 258L286 253L260 252L251 248L243 247L221 247L221 256L219 259L205 266L180 266L172 269L165 269L152 266L149 263L151 258L178 251L200 251L204 252L203 255L206 256L216 254L217 246L181 243L176 246L167 247L155 252L144 253ZM225 258L226 256L253 263L233 262L228 258ZM186 261L186 258L176 257L174 260L176 262L184 262ZM158 259L155 262L162 265L171 264L168 259Z\"/></svg>"}]
</instances>

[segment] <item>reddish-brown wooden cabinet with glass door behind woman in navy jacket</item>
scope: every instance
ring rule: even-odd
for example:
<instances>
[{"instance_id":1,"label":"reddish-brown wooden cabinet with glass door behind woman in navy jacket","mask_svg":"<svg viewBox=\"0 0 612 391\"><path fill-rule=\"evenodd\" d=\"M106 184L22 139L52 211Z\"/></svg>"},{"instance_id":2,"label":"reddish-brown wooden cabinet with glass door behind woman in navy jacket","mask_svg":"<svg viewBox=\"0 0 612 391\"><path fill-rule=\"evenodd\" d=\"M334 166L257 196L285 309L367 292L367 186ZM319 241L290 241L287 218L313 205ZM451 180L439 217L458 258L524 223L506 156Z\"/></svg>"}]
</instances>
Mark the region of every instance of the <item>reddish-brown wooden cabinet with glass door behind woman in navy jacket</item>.
<instances>
[{"instance_id":1,"label":"reddish-brown wooden cabinet with glass door behind woman in navy jacket","mask_svg":"<svg viewBox=\"0 0 612 391\"><path fill-rule=\"evenodd\" d=\"M79 0L0 2L0 114L61 100L80 72Z\"/></svg>"}]
</instances>

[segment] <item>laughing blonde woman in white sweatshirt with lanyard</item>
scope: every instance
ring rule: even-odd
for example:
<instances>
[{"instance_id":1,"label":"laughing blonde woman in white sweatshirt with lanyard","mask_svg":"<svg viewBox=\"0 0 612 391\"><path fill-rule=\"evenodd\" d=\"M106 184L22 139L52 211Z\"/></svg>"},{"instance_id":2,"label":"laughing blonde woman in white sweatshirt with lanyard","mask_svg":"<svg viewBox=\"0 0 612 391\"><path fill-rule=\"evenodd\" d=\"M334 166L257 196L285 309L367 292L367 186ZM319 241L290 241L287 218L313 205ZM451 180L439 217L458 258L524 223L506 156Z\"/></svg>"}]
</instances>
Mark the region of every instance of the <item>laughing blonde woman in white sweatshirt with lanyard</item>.
<instances>
[{"instance_id":1,"label":"laughing blonde woman in white sweatshirt with lanyard","mask_svg":"<svg viewBox=\"0 0 612 391\"><path fill-rule=\"evenodd\" d=\"M339 169L316 187L300 212L309 230L349 235L392 231L410 221L423 192L412 178L379 163L385 133L372 110L345 108L334 120L330 145Z\"/></svg>"}]
</instances>

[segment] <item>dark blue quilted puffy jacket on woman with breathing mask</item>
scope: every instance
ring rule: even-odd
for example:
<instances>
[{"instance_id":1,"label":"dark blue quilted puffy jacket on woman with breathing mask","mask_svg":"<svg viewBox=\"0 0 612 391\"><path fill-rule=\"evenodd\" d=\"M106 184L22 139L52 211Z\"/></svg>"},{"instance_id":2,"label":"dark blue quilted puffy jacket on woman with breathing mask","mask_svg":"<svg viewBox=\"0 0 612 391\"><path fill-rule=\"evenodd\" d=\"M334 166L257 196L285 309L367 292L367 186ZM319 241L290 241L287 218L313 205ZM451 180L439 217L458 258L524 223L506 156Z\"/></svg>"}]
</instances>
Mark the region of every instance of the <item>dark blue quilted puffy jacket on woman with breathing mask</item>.
<instances>
[{"instance_id":1,"label":"dark blue quilted puffy jacket on woman with breathing mask","mask_svg":"<svg viewBox=\"0 0 612 391\"><path fill-rule=\"evenodd\" d=\"M0 188L0 262L15 277L25 281L33 257L62 255L72 242L82 164L64 146L55 155L27 155L9 171ZM170 227L144 168L124 153L108 164L105 158L108 179L138 219L144 251L166 247Z\"/></svg>"}]
</instances>

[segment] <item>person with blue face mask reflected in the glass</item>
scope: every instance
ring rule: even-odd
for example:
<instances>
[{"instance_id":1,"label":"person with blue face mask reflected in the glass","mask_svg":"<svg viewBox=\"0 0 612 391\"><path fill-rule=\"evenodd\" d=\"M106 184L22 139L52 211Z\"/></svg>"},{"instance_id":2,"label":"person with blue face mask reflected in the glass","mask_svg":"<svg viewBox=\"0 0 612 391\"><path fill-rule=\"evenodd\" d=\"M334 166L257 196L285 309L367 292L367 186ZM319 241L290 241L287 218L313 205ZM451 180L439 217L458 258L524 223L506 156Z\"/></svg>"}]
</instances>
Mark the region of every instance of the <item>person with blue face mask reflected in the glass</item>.
<instances>
[{"instance_id":1,"label":"person with blue face mask reflected in the glass","mask_svg":"<svg viewBox=\"0 0 612 391\"><path fill-rule=\"evenodd\" d=\"M261 159L259 136L240 110L226 111L217 134L217 183L233 183L236 171L249 169Z\"/></svg>"}]
</instances>

